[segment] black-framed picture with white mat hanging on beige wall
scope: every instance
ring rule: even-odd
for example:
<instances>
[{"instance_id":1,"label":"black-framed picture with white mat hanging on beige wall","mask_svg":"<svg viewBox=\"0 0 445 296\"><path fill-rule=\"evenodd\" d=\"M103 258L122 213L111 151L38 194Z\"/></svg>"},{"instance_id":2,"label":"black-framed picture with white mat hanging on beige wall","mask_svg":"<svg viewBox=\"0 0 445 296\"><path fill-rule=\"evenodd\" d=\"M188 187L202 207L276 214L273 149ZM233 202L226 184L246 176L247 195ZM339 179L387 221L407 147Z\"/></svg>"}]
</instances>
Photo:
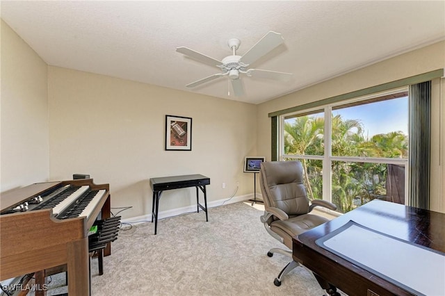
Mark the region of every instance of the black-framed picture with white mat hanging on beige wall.
<instances>
[{"instance_id":1,"label":"black-framed picture with white mat hanging on beige wall","mask_svg":"<svg viewBox=\"0 0 445 296\"><path fill-rule=\"evenodd\" d=\"M165 115L165 150L191 151L192 119Z\"/></svg>"}]
</instances>

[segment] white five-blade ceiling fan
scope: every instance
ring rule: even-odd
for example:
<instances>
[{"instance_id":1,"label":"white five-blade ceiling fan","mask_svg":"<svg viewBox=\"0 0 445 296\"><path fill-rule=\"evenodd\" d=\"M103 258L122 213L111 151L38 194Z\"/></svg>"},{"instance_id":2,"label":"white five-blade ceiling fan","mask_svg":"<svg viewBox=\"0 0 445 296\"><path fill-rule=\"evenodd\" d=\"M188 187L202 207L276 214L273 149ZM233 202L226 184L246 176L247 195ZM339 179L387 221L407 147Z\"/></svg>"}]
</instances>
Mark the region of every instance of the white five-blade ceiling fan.
<instances>
[{"instance_id":1,"label":"white five-blade ceiling fan","mask_svg":"<svg viewBox=\"0 0 445 296\"><path fill-rule=\"evenodd\" d=\"M244 94L243 84L241 83L241 74L245 74L250 77L259 77L266 79L275 79L278 81L289 81L291 79L291 73L275 72L261 69L249 69L252 65L262 56L265 56L270 51L278 47L284 42L280 33L273 31L268 32L266 35L254 44L243 56L236 55L236 49L238 49L241 41L238 38L229 39L229 48L232 50L232 56L226 56L223 60L216 60L204 54L201 54L188 47L177 47L176 51L185 54L186 56L193 58L201 63L215 66L220 68L221 72L197 80L195 82L186 85L187 88L194 88L197 85L218 79L222 76L229 76L229 82L232 84L232 89L236 97L241 97ZM230 95L230 87L229 87Z\"/></svg>"}]
</instances>

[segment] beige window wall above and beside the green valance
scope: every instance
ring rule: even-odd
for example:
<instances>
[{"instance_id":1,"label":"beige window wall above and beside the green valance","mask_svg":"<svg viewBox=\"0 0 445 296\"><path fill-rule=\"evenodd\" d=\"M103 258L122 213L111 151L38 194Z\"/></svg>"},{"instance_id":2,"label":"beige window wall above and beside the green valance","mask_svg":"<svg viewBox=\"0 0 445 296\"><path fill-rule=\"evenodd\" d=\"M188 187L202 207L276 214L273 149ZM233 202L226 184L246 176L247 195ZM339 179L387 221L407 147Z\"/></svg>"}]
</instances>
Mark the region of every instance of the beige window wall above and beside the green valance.
<instances>
[{"instance_id":1,"label":"beige window wall above and beside the green valance","mask_svg":"<svg viewBox=\"0 0 445 296\"><path fill-rule=\"evenodd\" d=\"M436 69L445 67L445 42L438 42L428 47L423 47L407 54L396 56L388 60L364 67L354 72L339 76L337 78L312 85L297 92L287 94L284 97L267 101L258 106L258 154L265 155L270 159L270 118L268 113L291 108L293 106L300 106L312 101L318 101L329 97L334 97L339 94L353 92L355 90L362 90L382 83L404 79L410 76L415 76L425 72L430 72ZM443 83L442 83L443 85ZM441 93L442 92L442 93ZM440 108L433 108L432 115L432 200L431 208L434 211L445 212L445 194L442 197L439 194L438 188L444 188L445 170L439 166L439 151L442 153L442 160L445 155L444 131L442 127L442 137L440 135L439 126L444 126L445 120L445 94L444 88L440 89L439 80L433 82L432 85L432 99L434 106L439 106L439 101L442 101L442 110ZM442 115L441 115L442 113ZM442 117L442 123L441 118ZM442 138L442 147L439 139ZM443 161L442 161L443 163ZM437 174L441 172L442 176ZM442 192L445 190L442 189Z\"/></svg>"}]
</instances>

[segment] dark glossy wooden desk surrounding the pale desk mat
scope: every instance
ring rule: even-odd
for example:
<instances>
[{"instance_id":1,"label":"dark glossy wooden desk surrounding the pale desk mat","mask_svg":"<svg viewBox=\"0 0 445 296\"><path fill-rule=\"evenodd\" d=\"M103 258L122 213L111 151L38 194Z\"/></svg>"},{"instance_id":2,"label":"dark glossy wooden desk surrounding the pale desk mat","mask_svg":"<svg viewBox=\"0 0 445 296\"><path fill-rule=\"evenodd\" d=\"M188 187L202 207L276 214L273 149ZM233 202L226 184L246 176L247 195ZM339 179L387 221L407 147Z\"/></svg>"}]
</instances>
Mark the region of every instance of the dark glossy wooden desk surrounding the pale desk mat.
<instances>
[{"instance_id":1,"label":"dark glossy wooden desk surrounding the pale desk mat","mask_svg":"<svg viewBox=\"0 0 445 296\"><path fill-rule=\"evenodd\" d=\"M349 220L389 236L445 252L445 214L379 200L293 238L293 259L348 295L413 295L316 245L318 238L339 229ZM416 272L416 266L406 272Z\"/></svg>"}]
</instances>

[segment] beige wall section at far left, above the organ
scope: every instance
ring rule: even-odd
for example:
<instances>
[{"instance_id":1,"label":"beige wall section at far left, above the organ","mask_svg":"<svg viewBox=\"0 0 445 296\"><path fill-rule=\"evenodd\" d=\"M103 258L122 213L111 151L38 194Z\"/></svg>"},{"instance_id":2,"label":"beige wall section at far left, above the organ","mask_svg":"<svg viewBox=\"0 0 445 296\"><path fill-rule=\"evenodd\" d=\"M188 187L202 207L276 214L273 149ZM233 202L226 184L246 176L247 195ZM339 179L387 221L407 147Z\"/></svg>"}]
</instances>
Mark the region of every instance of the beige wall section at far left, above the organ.
<instances>
[{"instance_id":1,"label":"beige wall section at far left, above the organ","mask_svg":"<svg viewBox=\"0 0 445 296\"><path fill-rule=\"evenodd\" d=\"M3 21L0 141L0 192L47 181L47 64Z\"/></svg>"}]
</instances>

